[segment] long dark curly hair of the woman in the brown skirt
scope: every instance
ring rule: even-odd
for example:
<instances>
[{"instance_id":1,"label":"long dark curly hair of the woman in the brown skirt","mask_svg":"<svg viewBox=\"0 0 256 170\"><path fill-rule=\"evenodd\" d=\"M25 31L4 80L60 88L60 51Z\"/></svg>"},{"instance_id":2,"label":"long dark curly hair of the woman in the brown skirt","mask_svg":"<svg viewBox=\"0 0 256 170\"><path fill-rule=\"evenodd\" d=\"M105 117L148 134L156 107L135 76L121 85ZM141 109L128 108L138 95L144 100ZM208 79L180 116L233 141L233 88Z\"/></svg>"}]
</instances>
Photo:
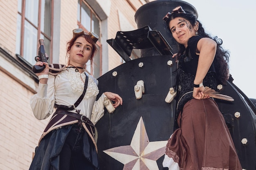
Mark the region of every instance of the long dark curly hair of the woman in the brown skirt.
<instances>
[{"instance_id":1,"label":"long dark curly hair of the woman in the brown skirt","mask_svg":"<svg viewBox=\"0 0 256 170\"><path fill-rule=\"evenodd\" d=\"M222 46L221 46L222 40L219 39L217 36L211 37L211 35L207 34L204 31L204 28L202 27L201 22L199 22L194 15L189 14L189 13L172 13L169 20L166 21L169 31L170 31L170 28L169 28L170 21L177 17L181 17L181 18L188 20L192 26L195 26L196 22L198 22L199 23L198 35L201 35L206 38L211 38L212 40L214 40L217 43L216 55L214 58L217 79L218 79L218 83L227 84L226 80L228 79L227 76L229 75L229 65L228 65L229 51L222 48ZM186 50L186 48L183 44L180 44L180 43L178 43L178 46L179 46L179 51L177 53L177 56L180 56Z\"/></svg>"}]
</instances>

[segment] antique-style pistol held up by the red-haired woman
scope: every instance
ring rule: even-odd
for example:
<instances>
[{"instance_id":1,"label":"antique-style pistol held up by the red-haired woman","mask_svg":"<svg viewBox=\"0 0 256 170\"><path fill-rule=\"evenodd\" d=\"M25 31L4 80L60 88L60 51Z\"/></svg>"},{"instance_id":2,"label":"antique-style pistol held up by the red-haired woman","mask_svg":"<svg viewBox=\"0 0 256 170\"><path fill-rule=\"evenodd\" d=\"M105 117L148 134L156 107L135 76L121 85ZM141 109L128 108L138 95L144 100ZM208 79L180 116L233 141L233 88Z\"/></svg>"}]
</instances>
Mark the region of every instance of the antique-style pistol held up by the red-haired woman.
<instances>
[{"instance_id":1,"label":"antique-style pistol held up by the red-haired woman","mask_svg":"<svg viewBox=\"0 0 256 170\"><path fill-rule=\"evenodd\" d=\"M38 62L47 62L48 60L48 55L45 53L45 44L44 44L44 40L43 39L40 39L39 40L39 49L38 49L38 56L35 57L35 60ZM39 58L39 60L38 60ZM33 68L32 68L32 71L34 73L40 73L43 71L43 69L45 69L45 65L43 66L36 66L34 65Z\"/></svg>"}]
</instances>

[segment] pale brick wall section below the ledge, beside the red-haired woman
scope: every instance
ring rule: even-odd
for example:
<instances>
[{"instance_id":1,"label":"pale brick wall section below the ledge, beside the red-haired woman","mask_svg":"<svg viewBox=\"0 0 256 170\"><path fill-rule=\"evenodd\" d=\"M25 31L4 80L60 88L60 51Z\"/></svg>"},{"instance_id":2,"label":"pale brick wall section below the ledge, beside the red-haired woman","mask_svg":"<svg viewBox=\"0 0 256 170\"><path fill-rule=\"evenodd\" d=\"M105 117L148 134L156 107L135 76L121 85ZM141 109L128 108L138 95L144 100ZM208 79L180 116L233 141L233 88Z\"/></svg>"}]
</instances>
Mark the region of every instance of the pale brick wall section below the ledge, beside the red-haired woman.
<instances>
[{"instance_id":1,"label":"pale brick wall section below the ledge, beside the red-haired woman","mask_svg":"<svg viewBox=\"0 0 256 170\"><path fill-rule=\"evenodd\" d=\"M30 108L33 93L0 71L0 170L27 170L45 124Z\"/></svg>"}]
</instances>

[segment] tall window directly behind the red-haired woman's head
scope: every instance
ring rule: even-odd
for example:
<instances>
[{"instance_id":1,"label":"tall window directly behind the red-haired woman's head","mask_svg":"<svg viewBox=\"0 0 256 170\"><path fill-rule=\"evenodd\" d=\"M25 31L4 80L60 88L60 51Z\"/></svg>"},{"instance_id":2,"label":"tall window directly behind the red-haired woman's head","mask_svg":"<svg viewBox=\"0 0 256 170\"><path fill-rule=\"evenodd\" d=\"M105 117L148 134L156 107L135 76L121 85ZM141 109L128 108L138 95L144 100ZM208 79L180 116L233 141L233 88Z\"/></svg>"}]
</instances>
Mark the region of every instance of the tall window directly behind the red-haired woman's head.
<instances>
[{"instance_id":1,"label":"tall window directly behind the red-haired woman's head","mask_svg":"<svg viewBox=\"0 0 256 170\"><path fill-rule=\"evenodd\" d=\"M100 20L91 7L84 1L78 0L77 5L77 24L79 28L82 28L87 32L94 32L99 36L97 41L98 52L94 56L94 63L91 66L90 61L87 63L86 71L94 77L98 78L101 76L101 32L100 32Z\"/></svg>"}]
</instances>

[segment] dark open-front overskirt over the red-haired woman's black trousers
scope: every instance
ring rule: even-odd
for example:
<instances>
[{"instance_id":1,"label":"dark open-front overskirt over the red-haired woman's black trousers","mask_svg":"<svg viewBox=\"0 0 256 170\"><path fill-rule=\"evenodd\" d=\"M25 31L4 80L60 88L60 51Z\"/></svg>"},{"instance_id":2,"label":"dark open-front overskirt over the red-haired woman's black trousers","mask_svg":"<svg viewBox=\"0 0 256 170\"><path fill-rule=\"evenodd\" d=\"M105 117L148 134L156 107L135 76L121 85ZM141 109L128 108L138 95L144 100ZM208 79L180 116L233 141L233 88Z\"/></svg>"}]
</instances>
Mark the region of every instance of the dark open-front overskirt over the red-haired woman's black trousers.
<instances>
[{"instance_id":1,"label":"dark open-front overskirt over the red-haired woman's black trousers","mask_svg":"<svg viewBox=\"0 0 256 170\"><path fill-rule=\"evenodd\" d=\"M60 153L65 144L65 140L72 128L77 124L62 126L49 132L36 147L35 156L29 170L59 170ZM83 129L84 130L84 129ZM85 131L85 130L84 130ZM83 156L88 166L95 170L99 169L97 152L92 139L87 132L83 132ZM86 165L85 165L86 166ZM85 169L85 166L81 167Z\"/></svg>"}]
</instances>

